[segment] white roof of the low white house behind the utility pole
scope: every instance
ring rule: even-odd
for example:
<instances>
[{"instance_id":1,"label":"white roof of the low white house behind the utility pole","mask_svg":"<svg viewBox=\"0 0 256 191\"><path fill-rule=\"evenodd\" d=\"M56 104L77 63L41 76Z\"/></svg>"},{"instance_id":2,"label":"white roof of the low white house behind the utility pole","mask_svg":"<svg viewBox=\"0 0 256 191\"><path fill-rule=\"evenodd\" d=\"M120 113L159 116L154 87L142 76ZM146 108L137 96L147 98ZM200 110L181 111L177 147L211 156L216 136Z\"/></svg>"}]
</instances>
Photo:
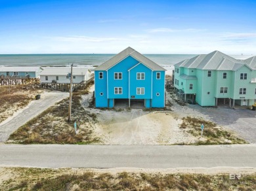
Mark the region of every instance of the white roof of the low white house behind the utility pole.
<instances>
[{"instance_id":1,"label":"white roof of the low white house behind the utility pole","mask_svg":"<svg viewBox=\"0 0 256 191\"><path fill-rule=\"evenodd\" d=\"M73 67L73 75L86 75L89 69L85 67ZM71 67L44 67L43 71L39 75L68 75L71 72Z\"/></svg>"}]
</instances>

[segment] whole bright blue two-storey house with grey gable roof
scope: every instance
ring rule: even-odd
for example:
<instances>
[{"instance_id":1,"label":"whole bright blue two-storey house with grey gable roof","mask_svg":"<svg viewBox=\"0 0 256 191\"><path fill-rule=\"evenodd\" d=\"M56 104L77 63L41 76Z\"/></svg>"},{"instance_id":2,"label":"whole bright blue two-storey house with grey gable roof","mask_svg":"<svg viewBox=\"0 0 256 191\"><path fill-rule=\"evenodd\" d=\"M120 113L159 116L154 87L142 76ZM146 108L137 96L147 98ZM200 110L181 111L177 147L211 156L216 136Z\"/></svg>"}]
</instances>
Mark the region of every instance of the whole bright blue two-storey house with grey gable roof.
<instances>
[{"instance_id":1,"label":"whole bright blue two-storey house with grey gable roof","mask_svg":"<svg viewBox=\"0 0 256 191\"><path fill-rule=\"evenodd\" d=\"M95 69L95 107L114 107L116 101L129 107L143 101L144 107L165 107L165 69L131 47Z\"/></svg>"}]
</instances>

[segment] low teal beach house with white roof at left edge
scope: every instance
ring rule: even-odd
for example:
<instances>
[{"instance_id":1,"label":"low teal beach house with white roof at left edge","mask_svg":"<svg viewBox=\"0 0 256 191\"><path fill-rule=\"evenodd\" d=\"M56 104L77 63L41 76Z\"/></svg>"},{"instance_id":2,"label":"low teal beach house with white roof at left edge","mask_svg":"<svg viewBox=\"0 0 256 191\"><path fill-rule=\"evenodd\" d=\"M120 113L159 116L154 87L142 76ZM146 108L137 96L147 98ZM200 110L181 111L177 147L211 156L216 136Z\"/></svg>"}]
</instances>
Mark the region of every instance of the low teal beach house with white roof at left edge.
<instances>
[{"instance_id":1,"label":"low teal beach house with white roof at left edge","mask_svg":"<svg viewBox=\"0 0 256 191\"><path fill-rule=\"evenodd\" d=\"M41 67L27 67L27 66L0 66L0 76L2 77L30 77L38 78L39 73L42 71Z\"/></svg>"}]
</instances>

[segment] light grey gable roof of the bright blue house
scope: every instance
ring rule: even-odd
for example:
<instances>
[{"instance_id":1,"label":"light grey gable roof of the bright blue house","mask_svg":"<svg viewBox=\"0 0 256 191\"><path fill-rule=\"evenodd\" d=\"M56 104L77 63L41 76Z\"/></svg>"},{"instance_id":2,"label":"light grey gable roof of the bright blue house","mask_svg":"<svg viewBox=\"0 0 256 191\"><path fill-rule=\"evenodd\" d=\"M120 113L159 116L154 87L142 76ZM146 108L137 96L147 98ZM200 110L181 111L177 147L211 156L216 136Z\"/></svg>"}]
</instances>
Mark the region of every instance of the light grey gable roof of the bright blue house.
<instances>
[{"instance_id":1,"label":"light grey gable roof of the bright blue house","mask_svg":"<svg viewBox=\"0 0 256 191\"><path fill-rule=\"evenodd\" d=\"M153 71L165 71L166 70L163 67L161 67L160 65L158 65L157 63L155 63L154 61L149 60L148 58L146 58L145 56L143 56L142 54L140 54L133 48L128 47L125 50L123 50L122 52L119 52L119 54L116 54L116 56L110 58L110 60L108 60L108 61L102 63L102 65L99 65L98 67L96 67L95 71L106 71L106 70L110 69L110 67L113 67L114 65L119 63L121 60L127 58L127 56L132 56L133 58L135 58L139 62L143 63L144 65L146 65Z\"/></svg>"}]
</instances>

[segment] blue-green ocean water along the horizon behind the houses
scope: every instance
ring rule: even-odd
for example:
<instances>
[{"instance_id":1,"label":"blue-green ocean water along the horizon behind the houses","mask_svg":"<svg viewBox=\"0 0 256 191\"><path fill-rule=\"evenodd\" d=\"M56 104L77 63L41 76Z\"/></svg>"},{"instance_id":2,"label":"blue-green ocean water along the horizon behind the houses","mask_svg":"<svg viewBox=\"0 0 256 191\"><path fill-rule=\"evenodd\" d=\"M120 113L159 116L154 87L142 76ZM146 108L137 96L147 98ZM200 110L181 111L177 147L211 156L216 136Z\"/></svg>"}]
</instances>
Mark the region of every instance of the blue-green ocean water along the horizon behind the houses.
<instances>
[{"instance_id":1,"label":"blue-green ocean water along the horizon behind the houses","mask_svg":"<svg viewBox=\"0 0 256 191\"><path fill-rule=\"evenodd\" d=\"M158 63L167 70L179 61L193 58L197 54L144 54L150 60ZM32 65L83 65L92 68L100 65L115 56L115 54L0 54L0 65L32 66ZM232 56L237 59L246 59L250 56Z\"/></svg>"}]
</instances>

